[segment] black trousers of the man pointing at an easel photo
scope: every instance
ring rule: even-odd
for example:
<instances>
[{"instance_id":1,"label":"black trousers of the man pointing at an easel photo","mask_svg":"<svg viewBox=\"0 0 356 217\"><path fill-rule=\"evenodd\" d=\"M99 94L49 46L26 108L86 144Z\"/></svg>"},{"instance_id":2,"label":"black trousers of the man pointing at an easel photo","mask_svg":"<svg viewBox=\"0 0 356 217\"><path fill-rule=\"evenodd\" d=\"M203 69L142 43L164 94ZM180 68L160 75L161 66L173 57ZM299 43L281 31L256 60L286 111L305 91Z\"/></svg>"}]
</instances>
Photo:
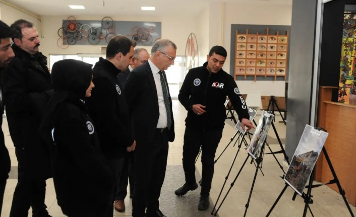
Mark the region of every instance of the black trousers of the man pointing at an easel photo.
<instances>
[{"instance_id":1,"label":"black trousers of the man pointing at an easel photo","mask_svg":"<svg viewBox=\"0 0 356 217\"><path fill-rule=\"evenodd\" d=\"M186 127L183 144L183 168L187 184L196 183L195 159L202 147L202 197L210 195L211 182L214 175L214 158L222 136L222 129L195 130Z\"/></svg>"}]
</instances>

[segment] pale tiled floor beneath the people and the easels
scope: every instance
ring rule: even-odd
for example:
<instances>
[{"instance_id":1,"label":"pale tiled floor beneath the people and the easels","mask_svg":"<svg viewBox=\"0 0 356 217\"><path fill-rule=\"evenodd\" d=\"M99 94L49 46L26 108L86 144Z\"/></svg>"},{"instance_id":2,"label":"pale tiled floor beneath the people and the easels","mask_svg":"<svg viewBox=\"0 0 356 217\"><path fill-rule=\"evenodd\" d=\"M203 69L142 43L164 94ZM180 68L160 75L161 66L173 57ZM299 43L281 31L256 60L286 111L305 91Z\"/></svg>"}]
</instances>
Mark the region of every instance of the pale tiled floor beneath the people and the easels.
<instances>
[{"instance_id":1,"label":"pale tiled floor beneath the people and the easels","mask_svg":"<svg viewBox=\"0 0 356 217\"><path fill-rule=\"evenodd\" d=\"M175 120L175 141L170 144L169 147L169 155L167 164L168 165L182 165L182 147L183 147L183 134L185 130L185 117L186 111L181 106L181 104L177 100L173 100L173 114ZM282 141L285 141L285 125L282 123L278 123L280 117L277 116L275 126L277 128L278 134ZM258 120L258 118L257 118ZM230 120L227 120L230 121ZM230 138L235 133L235 129L232 127L234 124L226 124L223 137L220 141L219 148L217 150L217 155L219 155L222 150L226 147L227 143L230 141ZM16 169L17 161L15 157L15 149L13 147L9 130L7 127L7 121L4 119L3 130L6 138L6 145L10 151L12 166ZM268 133L268 142L270 147L273 151L280 150L279 144L277 143L276 136L273 132L273 129L270 128ZM211 200L215 203L221 187L225 181L225 177L229 171L231 166L232 160L238 150L238 146L232 147L232 144L226 149L222 157L216 162L215 165L215 174L212 183L211 189ZM228 188L230 187L231 182L235 178L236 174L240 170L243 162L247 157L247 153L243 147L241 148L238 157L236 158L236 162L231 169L231 173L226 181L225 188L222 191L222 197L226 194ZM280 163L283 161L283 156L281 154L276 155L277 159ZM177 167L181 169L181 173L183 173L182 167ZM200 162L197 163L198 172L201 174L201 164ZM179 169L177 169L179 171ZM284 166L284 170L286 171L286 167ZM224 203L222 204L221 208L218 211L218 215L222 217L230 217L230 216L243 216L245 212L245 205L249 198L249 193L252 185L252 181L255 175L256 167L254 164L250 164L250 160L246 163L245 167L243 168L240 176L234 183L234 186L229 191ZM264 176L261 172L258 172L256 183L254 185L254 191L249 203L249 208L247 211L246 216L266 216L268 210L276 200L277 196L281 192L284 187L284 182L280 178L283 175L282 170L277 165L276 161L274 160L273 156L266 155L263 160L263 168L262 171ZM336 171L337 172L337 171ZM182 174L180 174L182 175ZM169 183L175 183L171 179L174 179L172 176L169 176ZM182 182L182 181L178 181ZM12 176L8 180L8 184L6 187L5 198L4 198L4 205L3 205L3 212L2 216L7 217L9 216L11 201L12 201L12 194L14 192L17 180L16 176ZM165 183L166 184L166 183ZM183 183L176 183L176 186L171 186L171 188L179 187ZM170 184L171 185L171 184ZM181 209L195 209L197 207L198 201L194 201L191 203L187 203L184 200L188 197L194 198L194 195L199 193L197 190L192 192L190 195L185 197L177 198L172 192L169 190L165 190L160 198L161 203L165 204L162 205L162 211L167 209L166 204L171 204L173 206L182 206ZM277 206L273 209L273 212L270 216L303 216L304 210L304 200L297 196L295 201L292 200L293 190L288 187L287 190L284 192L281 200L278 202ZM169 193L171 195L169 195ZM328 188L327 186L322 186L316 189L313 189L313 200L314 204L311 204L310 207L314 213L314 216L350 216L348 210L343 203L342 197L332 189ZM167 195L166 198L164 195ZM169 195L169 196L168 196ZM222 200L220 197L220 200ZM47 180L47 190L46 190L46 200L45 200L49 213L53 217L60 217L64 216L61 212L61 208L58 207L55 200L55 192L53 188L53 182L51 179ZM131 201L130 199L126 199L127 204L127 212L118 213L114 212L114 216L131 216ZM189 207L187 207L189 206ZM211 205L211 209L213 204ZM163 209L164 208L164 209ZM210 209L210 210L211 210ZM354 213L356 213L356 208L351 206L351 209ZM167 211L168 213L169 211ZM198 212L199 214L199 212ZM201 216L206 216L206 213L202 213ZM29 215L31 216L31 215ZM177 215L183 216L183 215ZM196 214L189 215L187 217L198 217ZM310 213L307 216L311 216ZM83 216L85 217L85 216ZM169 217L169 215L168 215Z\"/></svg>"}]
</instances>

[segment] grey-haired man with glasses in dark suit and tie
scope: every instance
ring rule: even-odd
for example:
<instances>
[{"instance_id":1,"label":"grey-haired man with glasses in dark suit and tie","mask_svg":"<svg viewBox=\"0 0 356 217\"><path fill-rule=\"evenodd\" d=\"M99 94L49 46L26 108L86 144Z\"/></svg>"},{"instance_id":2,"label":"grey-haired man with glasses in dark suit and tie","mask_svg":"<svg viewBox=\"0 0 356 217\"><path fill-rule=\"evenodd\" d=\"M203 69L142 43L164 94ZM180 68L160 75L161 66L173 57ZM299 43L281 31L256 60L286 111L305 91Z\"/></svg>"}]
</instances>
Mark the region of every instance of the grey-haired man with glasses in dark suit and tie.
<instances>
[{"instance_id":1,"label":"grey-haired man with glasses in dark suit and tie","mask_svg":"<svg viewBox=\"0 0 356 217\"><path fill-rule=\"evenodd\" d=\"M172 101L164 70L174 64L176 45L157 41L150 59L135 68L125 87L129 113L136 139L136 182L134 217L164 217L159 195L167 166L168 141L174 140Z\"/></svg>"}]
</instances>

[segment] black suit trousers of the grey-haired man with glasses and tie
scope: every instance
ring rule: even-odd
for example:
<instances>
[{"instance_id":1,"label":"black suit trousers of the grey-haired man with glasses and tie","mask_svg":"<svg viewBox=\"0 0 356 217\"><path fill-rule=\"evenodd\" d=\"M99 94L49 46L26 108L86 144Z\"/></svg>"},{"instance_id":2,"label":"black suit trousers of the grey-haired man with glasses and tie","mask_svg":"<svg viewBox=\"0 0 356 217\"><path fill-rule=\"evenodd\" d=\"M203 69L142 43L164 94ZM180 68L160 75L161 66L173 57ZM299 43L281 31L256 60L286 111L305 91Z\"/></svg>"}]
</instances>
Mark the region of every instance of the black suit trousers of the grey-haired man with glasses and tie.
<instances>
[{"instance_id":1,"label":"black suit trousers of the grey-haired man with glasses and tie","mask_svg":"<svg viewBox=\"0 0 356 217\"><path fill-rule=\"evenodd\" d=\"M156 216L154 211L159 208L158 198L167 166L168 130L156 130L151 144L137 142L137 146L150 149L135 151L136 182L132 216L145 216L146 207L146 217Z\"/></svg>"}]
</instances>

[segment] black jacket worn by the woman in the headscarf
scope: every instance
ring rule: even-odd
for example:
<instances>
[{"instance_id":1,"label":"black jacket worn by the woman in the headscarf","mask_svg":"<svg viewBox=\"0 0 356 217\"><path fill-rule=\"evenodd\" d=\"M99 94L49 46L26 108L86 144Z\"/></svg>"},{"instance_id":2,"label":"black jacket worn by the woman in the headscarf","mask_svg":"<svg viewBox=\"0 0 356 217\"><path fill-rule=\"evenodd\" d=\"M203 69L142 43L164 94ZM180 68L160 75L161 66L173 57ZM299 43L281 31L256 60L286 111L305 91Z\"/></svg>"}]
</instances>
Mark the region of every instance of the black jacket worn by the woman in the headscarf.
<instances>
[{"instance_id":1,"label":"black jacket worn by the woman in the headscarf","mask_svg":"<svg viewBox=\"0 0 356 217\"><path fill-rule=\"evenodd\" d=\"M109 201L113 175L101 156L97 128L83 102L66 100L56 113L53 128L53 181L58 205L90 206Z\"/></svg>"}]
</instances>

